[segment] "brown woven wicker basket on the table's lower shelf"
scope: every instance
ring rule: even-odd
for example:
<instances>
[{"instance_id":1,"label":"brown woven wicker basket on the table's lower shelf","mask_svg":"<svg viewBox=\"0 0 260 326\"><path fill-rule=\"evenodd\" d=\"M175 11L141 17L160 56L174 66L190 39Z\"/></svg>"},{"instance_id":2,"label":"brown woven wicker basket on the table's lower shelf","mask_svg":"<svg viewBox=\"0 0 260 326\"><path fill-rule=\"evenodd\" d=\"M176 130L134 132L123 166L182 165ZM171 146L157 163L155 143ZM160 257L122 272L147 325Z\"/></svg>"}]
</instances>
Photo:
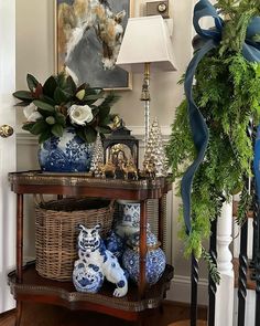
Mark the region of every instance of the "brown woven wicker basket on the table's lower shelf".
<instances>
[{"instance_id":1,"label":"brown woven wicker basket on the table's lower shelf","mask_svg":"<svg viewBox=\"0 0 260 326\"><path fill-rule=\"evenodd\" d=\"M72 278L77 259L78 224L101 224L101 235L111 229L113 204L108 200L66 198L40 202L35 208L36 271L56 281Z\"/></svg>"}]
</instances>

